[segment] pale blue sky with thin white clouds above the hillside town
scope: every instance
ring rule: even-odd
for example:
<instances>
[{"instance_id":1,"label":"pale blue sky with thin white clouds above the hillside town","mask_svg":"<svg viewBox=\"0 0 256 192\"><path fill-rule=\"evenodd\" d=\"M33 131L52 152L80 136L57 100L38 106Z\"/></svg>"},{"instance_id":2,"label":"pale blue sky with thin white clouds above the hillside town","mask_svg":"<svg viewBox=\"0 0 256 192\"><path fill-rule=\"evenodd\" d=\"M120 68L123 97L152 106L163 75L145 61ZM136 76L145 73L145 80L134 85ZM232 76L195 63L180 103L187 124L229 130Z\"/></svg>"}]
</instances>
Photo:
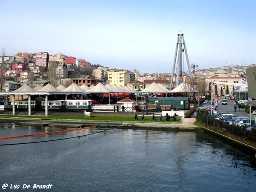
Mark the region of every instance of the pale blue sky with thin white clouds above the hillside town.
<instances>
[{"instance_id":1,"label":"pale blue sky with thin white clouds above the hillside town","mask_svg":"<svg viewBox=\"0 0 256 192\"><path fill-rule=\"evenodd\" d=\"M172 73L177 34L200 69L256 64L255 0L0 0L0 53L58 52ZM184 63L184 71L188 64Z\"/></svg>"}]
</instances>

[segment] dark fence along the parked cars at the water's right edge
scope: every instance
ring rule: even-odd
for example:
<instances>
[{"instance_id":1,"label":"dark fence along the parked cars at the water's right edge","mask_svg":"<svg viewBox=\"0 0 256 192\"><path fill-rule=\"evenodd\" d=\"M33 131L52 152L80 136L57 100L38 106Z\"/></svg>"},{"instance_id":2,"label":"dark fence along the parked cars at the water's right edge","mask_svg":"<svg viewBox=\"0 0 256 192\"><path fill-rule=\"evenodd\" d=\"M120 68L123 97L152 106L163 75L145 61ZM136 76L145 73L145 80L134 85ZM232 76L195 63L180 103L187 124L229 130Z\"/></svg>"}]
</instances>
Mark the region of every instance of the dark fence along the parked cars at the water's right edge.
<instances>
[{"instance_id":1,"label":"dark fence along the parked cars at the water's right edge","mask_svg":"<svg viewBox=\"0 0 256 192\"><path fill-rule=\"evenodd\" d=\"M231 138L239 137L241 140L256 142L256 127L245 123L231 122L227 123L222 119L215 119L215 116L210 116L203 113L197 113L196 119L207 128L210 128L218 133L225 134Z\"/></svg>"}]
</instances>

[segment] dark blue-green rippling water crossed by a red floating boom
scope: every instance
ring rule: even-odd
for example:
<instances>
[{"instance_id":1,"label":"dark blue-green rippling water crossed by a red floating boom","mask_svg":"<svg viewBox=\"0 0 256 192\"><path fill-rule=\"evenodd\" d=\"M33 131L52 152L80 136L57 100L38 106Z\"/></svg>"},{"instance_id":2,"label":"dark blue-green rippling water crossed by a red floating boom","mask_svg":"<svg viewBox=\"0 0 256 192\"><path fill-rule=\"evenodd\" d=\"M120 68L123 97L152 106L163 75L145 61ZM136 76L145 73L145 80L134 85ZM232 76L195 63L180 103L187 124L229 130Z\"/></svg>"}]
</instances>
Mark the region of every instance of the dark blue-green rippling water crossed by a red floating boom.
<instances>
[{"instance_id":1,"label":"dark blue-green rippling water crossed by a red floating boom","mask_svg":"<svg viewBox=\"0 0 256 192\"><path fill-rule=\"evenodd\" d=\"M49 128L0 124L1 137ZM51 128L53 129L53 128ZM61 128L57 128L61 129ZM3 143L89 134L67 132ZM204 132L112 129L80 139L0 146L0 187L58 192L254 192L255 159ZM24 191L24 189L4 191Z\"/></svg>"}]
</instances>

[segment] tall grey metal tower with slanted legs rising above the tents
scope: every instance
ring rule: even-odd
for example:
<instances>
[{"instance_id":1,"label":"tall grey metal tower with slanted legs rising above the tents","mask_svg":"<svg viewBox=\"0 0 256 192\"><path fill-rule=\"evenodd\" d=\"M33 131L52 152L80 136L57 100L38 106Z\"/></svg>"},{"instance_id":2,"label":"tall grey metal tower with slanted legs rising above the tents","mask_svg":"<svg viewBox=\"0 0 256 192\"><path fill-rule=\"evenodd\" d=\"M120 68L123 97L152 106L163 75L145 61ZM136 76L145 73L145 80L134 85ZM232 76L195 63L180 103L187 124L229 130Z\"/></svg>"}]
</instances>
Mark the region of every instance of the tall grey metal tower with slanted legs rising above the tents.
<instances>
[{"instance_id":1,"label":"tall grey metal tower with slanted legs rising above the tents","mask_svg":"<svg viewBox=\"0 0 256 192\"><path fill-rule=\"evenodd\" d=\"M186 44L185 44L183 33L181 33L181 34L178 34L178 38L177 38L174 61L173 61L173 66L172 66L172 78L171 78L171 83L170 83L170 90L172 90L172 83L173 83L173 79L175 76L175 67L176 66L177 66L177 68L176 68L176 73L177 73L176 87L182 82L182 71L183 71L183 66L184 66L184 51L185 51L185 55L186 55L186 62L187 62L188 69L189 69L190 80L192 80L192 73L190 70L189 57L188 57L188 53L186 50Z\"/></svg>"}]
</instances>

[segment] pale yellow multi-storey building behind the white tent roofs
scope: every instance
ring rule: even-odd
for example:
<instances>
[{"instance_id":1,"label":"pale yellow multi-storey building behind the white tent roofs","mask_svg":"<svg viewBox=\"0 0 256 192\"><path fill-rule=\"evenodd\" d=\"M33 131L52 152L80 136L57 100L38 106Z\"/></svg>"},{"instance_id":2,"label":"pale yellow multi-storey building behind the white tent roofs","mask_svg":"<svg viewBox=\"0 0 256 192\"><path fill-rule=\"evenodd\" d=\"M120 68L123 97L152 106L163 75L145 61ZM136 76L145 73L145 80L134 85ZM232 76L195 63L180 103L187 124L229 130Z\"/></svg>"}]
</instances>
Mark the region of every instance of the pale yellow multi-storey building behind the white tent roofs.
<instances>
[{"instance_id":1,"label":"pale yellow multi-storey building behind the white tent roofs","mask_svg":"<svg viewBox=\"0 0 256 192\"><path fill-rule=\"evenodd\" d=\"M110 85L125 86L130 82L130 72L127 70L109 70L108 81Z\"/></svg>"}]
</instances>

